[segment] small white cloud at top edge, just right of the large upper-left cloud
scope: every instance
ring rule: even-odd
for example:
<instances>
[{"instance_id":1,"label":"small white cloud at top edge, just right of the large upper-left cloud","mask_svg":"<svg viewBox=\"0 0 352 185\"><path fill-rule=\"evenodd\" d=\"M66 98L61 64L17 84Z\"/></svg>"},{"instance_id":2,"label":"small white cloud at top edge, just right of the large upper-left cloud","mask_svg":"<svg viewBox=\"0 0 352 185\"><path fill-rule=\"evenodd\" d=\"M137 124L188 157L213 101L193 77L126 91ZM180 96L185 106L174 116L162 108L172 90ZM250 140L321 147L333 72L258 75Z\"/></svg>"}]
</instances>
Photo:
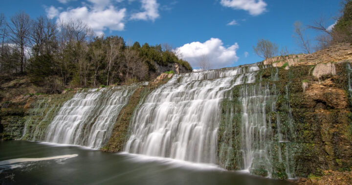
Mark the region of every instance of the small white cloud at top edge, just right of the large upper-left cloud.
<instances>
[{"instance_id":1,"label":"small white cloud at top edge, just right of the large upper-left cloud","mask_svg":"<svg viewBox=\"0 0 352 185\"><path fill-rule=\"evenodd\" d=\"M131 19L137 20L155 20L159 17L159 4L156 0L141 0L143 12L132 14Z\"/></svg>"}]
</instances>

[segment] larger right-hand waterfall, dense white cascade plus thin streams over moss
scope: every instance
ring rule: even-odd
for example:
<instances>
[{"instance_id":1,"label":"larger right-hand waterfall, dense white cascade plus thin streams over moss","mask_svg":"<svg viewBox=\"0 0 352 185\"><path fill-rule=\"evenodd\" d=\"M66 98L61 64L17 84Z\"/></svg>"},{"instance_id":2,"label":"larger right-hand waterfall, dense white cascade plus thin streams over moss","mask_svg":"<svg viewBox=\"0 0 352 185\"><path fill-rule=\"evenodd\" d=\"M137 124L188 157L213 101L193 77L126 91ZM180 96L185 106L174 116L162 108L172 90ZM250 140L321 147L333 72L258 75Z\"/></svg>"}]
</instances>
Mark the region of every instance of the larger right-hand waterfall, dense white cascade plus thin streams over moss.
<instances>
[{"instance_id":1,"label":"larger right-hand waterfall, dense white cascade plus thin streams over moss","mask_svg":"<svg viewBox=\"0 0 352 185\"><path fill-rule=\"evenodd\" d=\"M175 75L137 107L124 150L294 177L288 85L281 94L278 73L256 63Z\"/></svg>"}]
</instances>

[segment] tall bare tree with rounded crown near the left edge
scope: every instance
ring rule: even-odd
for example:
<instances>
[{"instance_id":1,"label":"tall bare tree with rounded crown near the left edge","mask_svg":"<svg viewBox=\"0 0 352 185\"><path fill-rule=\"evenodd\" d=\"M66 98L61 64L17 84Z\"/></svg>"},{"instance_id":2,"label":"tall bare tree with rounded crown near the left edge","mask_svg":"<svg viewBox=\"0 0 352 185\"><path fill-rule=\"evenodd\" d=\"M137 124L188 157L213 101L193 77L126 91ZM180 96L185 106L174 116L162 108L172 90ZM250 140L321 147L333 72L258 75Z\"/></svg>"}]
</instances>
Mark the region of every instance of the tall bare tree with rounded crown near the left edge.
<instances>
[{"instance_id":1,"label":"tall bare tree with rounded crown near the left edge","mask_svg":"<svg viewBox=\"0 0 352 185\"><path fill-rule=\"evenodd\" d=\"M20 48L21 73L23 73L26 66L24 50L25 50L25 47L27 47L28 45L28 37L31 29L31 20L29 16L24 12L16 13L13 17L11 17L10 20L11 20L11 26L9 26L10 32L11 32L10 39L14 44L16 44L18 48Z\"/></svg>"}]
</instances>

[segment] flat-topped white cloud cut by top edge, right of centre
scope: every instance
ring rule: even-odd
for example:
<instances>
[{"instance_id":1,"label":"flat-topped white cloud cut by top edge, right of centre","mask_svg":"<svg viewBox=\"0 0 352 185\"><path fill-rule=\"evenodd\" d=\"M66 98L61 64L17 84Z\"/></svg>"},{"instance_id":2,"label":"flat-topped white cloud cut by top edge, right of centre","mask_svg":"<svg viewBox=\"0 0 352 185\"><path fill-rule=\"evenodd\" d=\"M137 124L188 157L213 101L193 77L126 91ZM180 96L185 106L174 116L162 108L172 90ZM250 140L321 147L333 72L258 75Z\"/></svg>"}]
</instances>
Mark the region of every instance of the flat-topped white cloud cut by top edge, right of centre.
<instances>
[{"instance_id":1,"label":"flat-topped white cloud cut by top edge, right of centre","mask_svg":"<svg viewBox=\"0 0 352 185\"><path fill-rule=\"evenodd\" d=\"M221 0L220 4L233 9L248 11L252 16L258 16L266 11L264 0Z\"/></svg>"}]
</instances>

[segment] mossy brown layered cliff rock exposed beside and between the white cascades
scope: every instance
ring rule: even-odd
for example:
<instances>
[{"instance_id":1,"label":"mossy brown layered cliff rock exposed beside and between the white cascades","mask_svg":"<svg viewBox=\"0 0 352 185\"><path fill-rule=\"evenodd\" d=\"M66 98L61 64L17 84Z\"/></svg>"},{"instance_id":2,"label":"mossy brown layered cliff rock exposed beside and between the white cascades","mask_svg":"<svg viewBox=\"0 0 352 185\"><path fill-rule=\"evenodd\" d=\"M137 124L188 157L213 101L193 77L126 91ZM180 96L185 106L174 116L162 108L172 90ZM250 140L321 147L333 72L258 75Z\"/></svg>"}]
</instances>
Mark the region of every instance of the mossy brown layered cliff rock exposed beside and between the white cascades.
<instances>
[{"instance_id":1,"label":"mossy brown layered cliff rock exposed beside and between the white cascades","mask_svg":"<svg viewBox=\"0 0 352 185\"><path fill-rule=\"evenodd\" d=\"M264 61L267 66L256 73L255 82L234 86L221 103L217 163L229 170L248 167L242 156L243 115L253 113L255 108L250 109L250 103L267 95L264 103L258 104L261 110L254 110L261 115L264 112L267 138L260 138L260 134L253 134L253 138L266 142L263 145L268 154L253 155L251 173L286 179L323 175L325 170L351 171L351 57L351 45L344 44L311 55ZM335 73L313 76L317 64L328 62L332 62L329 65L334 66ZM103 151L123 150L138 105L170 77L163 74L136 88L119 112ZM74 94L26 95L2 102L0 139L43 141L41 133Z\"/></svg>"}]
</instances>

